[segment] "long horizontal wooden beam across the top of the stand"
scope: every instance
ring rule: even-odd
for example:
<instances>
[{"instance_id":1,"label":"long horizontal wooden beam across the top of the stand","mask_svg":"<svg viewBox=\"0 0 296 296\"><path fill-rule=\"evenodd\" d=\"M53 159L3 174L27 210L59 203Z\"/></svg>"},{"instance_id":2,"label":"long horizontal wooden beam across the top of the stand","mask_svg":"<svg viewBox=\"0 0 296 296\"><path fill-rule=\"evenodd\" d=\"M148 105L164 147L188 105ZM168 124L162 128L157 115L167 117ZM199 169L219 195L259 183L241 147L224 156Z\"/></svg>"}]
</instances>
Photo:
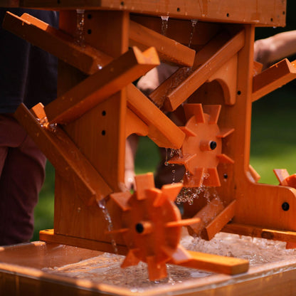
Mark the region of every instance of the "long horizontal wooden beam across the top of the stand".
<instances>
[{"instance_id":1,"label":"long horizontal wooden beam across the top of the stand","mask_svg":"<svg viewBox=\"0 0 296 296\"><path fill-rule=\"evenodd\" d=\"M4 0L6 2L6 0ZM1 4L1 3L0 3ZM222 5L223 4L223 5ZM198 18L201 21L253 23L260 26L285 26L286 0L20 0L23 7L49 9L115 9L134 13L169 15L173 18Z\"/></svg>"}]
</instances>

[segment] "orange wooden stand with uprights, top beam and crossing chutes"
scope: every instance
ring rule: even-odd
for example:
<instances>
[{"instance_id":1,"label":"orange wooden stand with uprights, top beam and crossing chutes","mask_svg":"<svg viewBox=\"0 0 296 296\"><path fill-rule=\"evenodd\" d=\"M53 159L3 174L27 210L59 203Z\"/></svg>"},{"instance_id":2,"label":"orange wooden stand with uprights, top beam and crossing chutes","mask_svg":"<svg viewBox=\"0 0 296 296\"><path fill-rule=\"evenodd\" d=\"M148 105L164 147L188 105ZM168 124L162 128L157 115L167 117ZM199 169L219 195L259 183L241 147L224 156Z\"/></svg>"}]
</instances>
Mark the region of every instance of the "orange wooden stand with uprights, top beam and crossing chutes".
<instances>
[{"instance_id":1,"label":"orange wooden stand with uprights, top beam and crossing chutes","mask_svg":"<svg viewBox=\"0 0 296 296\"><path fill-rule=\"evenodd\" d=\"M17 6L15 2L7 4L5 1L5 4ZM127 191L124 184L125 139L134 132L148 135L159 147L179 149L185 139L199 135L186 126L177 127L162 110L174 112L187 101L193 111L186 112L184 107L185 116L192 115L198 118L199 123L217 127L218 133L214 135L219 139L218 145L222 146L214 167L196 167L196 174L201 180L204 171L213 172L216 184L220 185L219 179L223 178L225 182L216 189L222 201L219 208L212 211L211 202L210 206L201 206L197 202L191 208L185 207L185 216L202 218L201 213L206 213L207 220L202 227L202 236L206 239L224 229L249 235L256 233L258 236L269 233L270 238L294 243L296 189L258 184L258 174L249 166L252 102L295 77L295 66L287 60L263 73L259 73L260 67L257 66L253 70L255 26L282 25L285 1L275 0L271 5L267 0L243 1L243 4L228 0L227 4L224 2L221 6L218 0L203 1L202 5L197 5L196 1L177 3L171 0L167 7L163 2L143 4L142 1L115 4L110 4L110 1L100 1L100 4L88 1L85 4L85 1L78 0L19 2L21 7L59 9L60 31L28 15L18 18L7 14L4 28L33 43L40 43L41 47L63 60L59 68L58 98L44 109L39 105L30 112L21 106L16 112L16 118L31 137L38 138L41 132L42 137L36 142L48 158L54 150L62 160L55 162L55 157L52 157L56 164L54 231L41 232L41 239L114 252L110 237L112 231L106 233L108 225L104 210L107 204L110 216L115 218L114 228L122 229L120 217L125 208L120 208L109 197L117 192L125 196ZM241 9L242 5L245 11ZM85 18L83 46L73 45L78 37L75 9L86 9L83 14L88 16ZM208 37L194 39L196 54L191 48L153 30L155 20L151 16L165 15L165 10L166 14L177 18L174 23L180 24L177 39L181 39L184 32L189 33L184 21L187 25L188 19L203 21ZM260 10L263 13L259 15ZM131 11L150 16L136 15L131 19ZM208 25L207 22L215 23ZM143 27L144 23L147 27ZM147 38L141 36L142 31L147 33ZM171 35L174 37L174 33ZM46 44L48 40L55 41L56 46ZM144 51L129 49L131 45L144 48ZM146 49L150 45L155 49ZM63 53L65 48L68 48L70 58ZM162 110L132 85L134 80L159 65L157 54L162 60L169 60L180 67L150 95L152 102ZM97 63L100 67L96 68ZM184 69L184 65L192 68ZM270 80L270 73L274 72L276 79ZM85 73L89 75L86 78ZM188 105L187 110L190 109ZM190 118L186 120L189 122ZM55 135L51 126L57 124ZM66 139L68 144L63 146L63 141L55 137ZM202 150L208 153L213 149L203 147ZM69 154L79 155L81 165L75 164L75 157L69 157L67 150ZM180 157L177 163L186 165L191 157L194 155L184 159ZM72 180L78 184L77 187L69 183ZM151 192L153 197L158 194L154 188ZM290 211L282 207L283 203L289 204ZM265 215L262 215L263 211ZM228 224L231 220L233 223ZM173 223L174 227L183 225L181 221L177 222ZM196 229L200 228L194 226L191 231ZM117 245L120 253L127 253L122 237L117 239ZM173 258L174 263L196 268L204 264L205 269L216 268L225 273L233 269L240 273L246 268L245 263L241 270L240 263L236 263L235 268L229 267L230 259L224 264L222 258L211 255L210 260L203 255L200 261L200 255L195 253L192 255L194 260L187 260L188 254L181 249L177 255L181 259Z\"/></svg>"}]
</instances>

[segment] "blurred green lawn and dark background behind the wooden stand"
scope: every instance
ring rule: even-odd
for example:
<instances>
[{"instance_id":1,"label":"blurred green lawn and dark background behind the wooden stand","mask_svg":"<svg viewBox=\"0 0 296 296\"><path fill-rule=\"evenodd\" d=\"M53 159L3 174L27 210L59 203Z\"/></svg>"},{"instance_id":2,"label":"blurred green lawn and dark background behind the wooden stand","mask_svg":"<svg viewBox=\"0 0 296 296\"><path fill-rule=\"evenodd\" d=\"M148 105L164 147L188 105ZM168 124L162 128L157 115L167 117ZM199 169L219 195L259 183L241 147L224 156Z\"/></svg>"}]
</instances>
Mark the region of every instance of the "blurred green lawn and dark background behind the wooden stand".
<instances>
[{"instance_id":1,"label":"blurred green lawn and dark background behind the wooden stand","mask_svg":"<svg viewBox=\"0 0 296 296\"><path fill-rule=\"evenodd\" d=\"M296 1L287 0L287 26L285 28L256 28L255 38L266 38L275 33L296 29L294 14ZM290 57L289 60L295 60ZM296 81L275 90L253 103L250 164L261 176L260 182L278 184L273 169L287 169L296 173ZM159 162L156 145L142 137L136 157L136 173L154 171ZM54 169L46 165L46 181L35 209L35 231L53 228Z\"/></svg>"}]
</instances>

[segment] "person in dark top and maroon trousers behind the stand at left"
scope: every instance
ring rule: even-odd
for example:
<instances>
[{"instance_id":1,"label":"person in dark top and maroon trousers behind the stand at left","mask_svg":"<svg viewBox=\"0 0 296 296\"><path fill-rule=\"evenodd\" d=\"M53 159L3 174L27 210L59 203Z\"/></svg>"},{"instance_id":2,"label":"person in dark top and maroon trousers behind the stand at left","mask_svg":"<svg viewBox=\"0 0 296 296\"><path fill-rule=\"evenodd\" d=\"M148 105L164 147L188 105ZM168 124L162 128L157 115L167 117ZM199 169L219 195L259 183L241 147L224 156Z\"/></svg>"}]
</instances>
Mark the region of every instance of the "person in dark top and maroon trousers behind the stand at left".
<instances>
[{"instance_id":1,"label":"person in dark top and maroon trousers behind the stand at left","mask_svg":"<svg viewBox=\"0 0 296 296\"><path fill-rule=\"evenodd\" d=\"M57 58L2 28L6 11L31 14L58 27L56 11L0 8L0 245L33 236L33 210L45 179L46 157L13 114L56 98Z\"/></svg>"}]
</instances>

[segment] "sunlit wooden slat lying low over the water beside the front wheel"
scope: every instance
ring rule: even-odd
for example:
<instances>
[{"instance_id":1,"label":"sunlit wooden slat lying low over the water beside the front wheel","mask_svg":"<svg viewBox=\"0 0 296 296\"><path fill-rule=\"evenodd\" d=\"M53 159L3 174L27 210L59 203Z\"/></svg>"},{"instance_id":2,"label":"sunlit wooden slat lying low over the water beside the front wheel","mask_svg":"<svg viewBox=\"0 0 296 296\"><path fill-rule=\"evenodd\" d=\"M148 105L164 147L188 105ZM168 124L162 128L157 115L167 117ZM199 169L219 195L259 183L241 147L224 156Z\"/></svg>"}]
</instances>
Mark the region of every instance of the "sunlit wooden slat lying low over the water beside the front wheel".
<instances>
[{"instance_id":1,"label":"sunlit wooden slat lying low over the water beside the front wheel","mask_svg":"<svg viewBox=\"0 0 296 296\"><path fill-rule=\"evenodd\" d=\"M207 253L188 251L192 259L179 265L189 268L208 270L213 273L225 273L227 275L237 275L248 271L248 260L219 256Z\"/></svg>"}]
</instances>

